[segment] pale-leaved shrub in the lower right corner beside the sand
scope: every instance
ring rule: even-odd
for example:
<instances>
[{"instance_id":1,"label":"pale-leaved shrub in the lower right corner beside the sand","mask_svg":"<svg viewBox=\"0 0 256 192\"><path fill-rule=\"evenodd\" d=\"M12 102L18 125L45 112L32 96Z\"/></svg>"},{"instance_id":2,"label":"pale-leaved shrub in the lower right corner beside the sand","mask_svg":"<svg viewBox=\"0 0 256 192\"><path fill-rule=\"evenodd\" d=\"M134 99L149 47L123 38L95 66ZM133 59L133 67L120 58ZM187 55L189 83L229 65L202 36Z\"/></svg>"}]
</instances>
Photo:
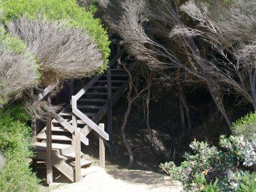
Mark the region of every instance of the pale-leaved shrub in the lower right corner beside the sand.
<instances>
[{"instance_id":1,"label":"pale-leaved shrub in the lower right corner beside the sand","mask_svg":"<svg viewBox=\"0 0 256 192\"><path fill-rule=\"evenodd\" d=\"M239 170L238 165L256 164L256 135L253 140L243 136L221 136L221 150L208 143L193 141L189 145L193 153L185 153L180 166L173 162L160 167L170 174L172 180L180 180L188 191L238 191L247 188L253 191L255 180L253 173Z\"/></svg>"}]
</instances>

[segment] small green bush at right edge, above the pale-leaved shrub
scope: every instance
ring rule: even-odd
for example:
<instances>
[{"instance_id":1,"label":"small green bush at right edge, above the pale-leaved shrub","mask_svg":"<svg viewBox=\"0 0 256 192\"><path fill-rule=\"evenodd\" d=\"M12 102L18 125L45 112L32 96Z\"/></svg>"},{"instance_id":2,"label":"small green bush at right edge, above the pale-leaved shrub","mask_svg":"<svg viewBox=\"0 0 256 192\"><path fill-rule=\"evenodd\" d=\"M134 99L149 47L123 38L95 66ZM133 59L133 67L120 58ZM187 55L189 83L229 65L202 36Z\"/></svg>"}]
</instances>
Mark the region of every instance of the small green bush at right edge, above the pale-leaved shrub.
<instances>
[{"instance_id":1,"label":"small green bush at right edge, above the pale-leaved shrub","mask_svg":"<svg viewBox=\"0 0 256 192\"><path fill-rule=\"evenodd\" d=\"M243 134L248 140L252 140L253 134L256 132L256 113L249 113L234 122L231 128L232 134Z\"/></svg>"}]
</instances>

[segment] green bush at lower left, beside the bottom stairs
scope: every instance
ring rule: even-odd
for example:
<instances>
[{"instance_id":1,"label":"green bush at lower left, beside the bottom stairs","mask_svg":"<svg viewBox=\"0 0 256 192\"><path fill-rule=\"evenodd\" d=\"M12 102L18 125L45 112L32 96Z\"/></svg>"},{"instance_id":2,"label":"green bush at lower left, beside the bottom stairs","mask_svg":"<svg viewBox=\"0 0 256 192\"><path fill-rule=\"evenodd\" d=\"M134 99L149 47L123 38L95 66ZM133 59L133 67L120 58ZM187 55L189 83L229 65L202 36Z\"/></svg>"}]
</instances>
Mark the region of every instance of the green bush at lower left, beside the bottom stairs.
<instances>
[{"instance_id":1,"label":"green bush at lower left, beside the bottom stairs","mask_svg":"<svg viewBox=\"0 0 256 192\"><path fill-rule=\"evenodd\" d=\"M31 152L28 116L20 105L0 111L0 149L4 165L0 170L0 191L38 191L38 179L29 169Z\"/></svg>"}]
</instances>

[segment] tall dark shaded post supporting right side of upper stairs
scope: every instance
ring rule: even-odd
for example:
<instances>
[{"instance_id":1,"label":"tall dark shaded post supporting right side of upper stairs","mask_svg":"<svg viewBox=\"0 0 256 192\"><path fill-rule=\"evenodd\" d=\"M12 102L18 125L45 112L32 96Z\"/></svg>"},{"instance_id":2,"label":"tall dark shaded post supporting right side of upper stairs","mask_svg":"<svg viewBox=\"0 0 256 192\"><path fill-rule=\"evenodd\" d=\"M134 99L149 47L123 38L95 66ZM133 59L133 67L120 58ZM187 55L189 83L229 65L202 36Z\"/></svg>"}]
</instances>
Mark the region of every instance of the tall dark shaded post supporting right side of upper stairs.
<instances>
[{"instance_id":1,"label":"tall dark shaded post supporting right side of upper stairs","mask_svg":"<svg viewBox=\"0 0 256 192\"><path fill-rule=\"evenodd\" d=\"M108 79L108 134L110 144L110 156L113 154L113 113L112 113L112 92L111 92L111 66L107 70Z\"/></svg>"}]
</instances>

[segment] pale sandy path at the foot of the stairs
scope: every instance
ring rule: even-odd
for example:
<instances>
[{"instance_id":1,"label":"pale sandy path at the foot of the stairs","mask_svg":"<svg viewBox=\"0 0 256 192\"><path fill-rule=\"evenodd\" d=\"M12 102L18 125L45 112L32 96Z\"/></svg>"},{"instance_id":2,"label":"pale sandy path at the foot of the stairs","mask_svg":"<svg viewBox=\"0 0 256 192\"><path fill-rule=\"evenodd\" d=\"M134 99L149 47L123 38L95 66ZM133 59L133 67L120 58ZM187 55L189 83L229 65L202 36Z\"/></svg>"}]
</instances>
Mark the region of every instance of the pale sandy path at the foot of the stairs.
<instances>
[{"instance_id":1,"label":"pale sandy path at the foot of the stairs","mask_svg":"<svg viewBox=\"0 0 256 192\"><path fill-rule=\"evenodd\" d=\"M180 192L180 184L174 186L161 179L155 172L145 171L105 171L97 168L96 172L86 175L81 182L66 184L52 192Z\"/></svg>"}]
</instances>

